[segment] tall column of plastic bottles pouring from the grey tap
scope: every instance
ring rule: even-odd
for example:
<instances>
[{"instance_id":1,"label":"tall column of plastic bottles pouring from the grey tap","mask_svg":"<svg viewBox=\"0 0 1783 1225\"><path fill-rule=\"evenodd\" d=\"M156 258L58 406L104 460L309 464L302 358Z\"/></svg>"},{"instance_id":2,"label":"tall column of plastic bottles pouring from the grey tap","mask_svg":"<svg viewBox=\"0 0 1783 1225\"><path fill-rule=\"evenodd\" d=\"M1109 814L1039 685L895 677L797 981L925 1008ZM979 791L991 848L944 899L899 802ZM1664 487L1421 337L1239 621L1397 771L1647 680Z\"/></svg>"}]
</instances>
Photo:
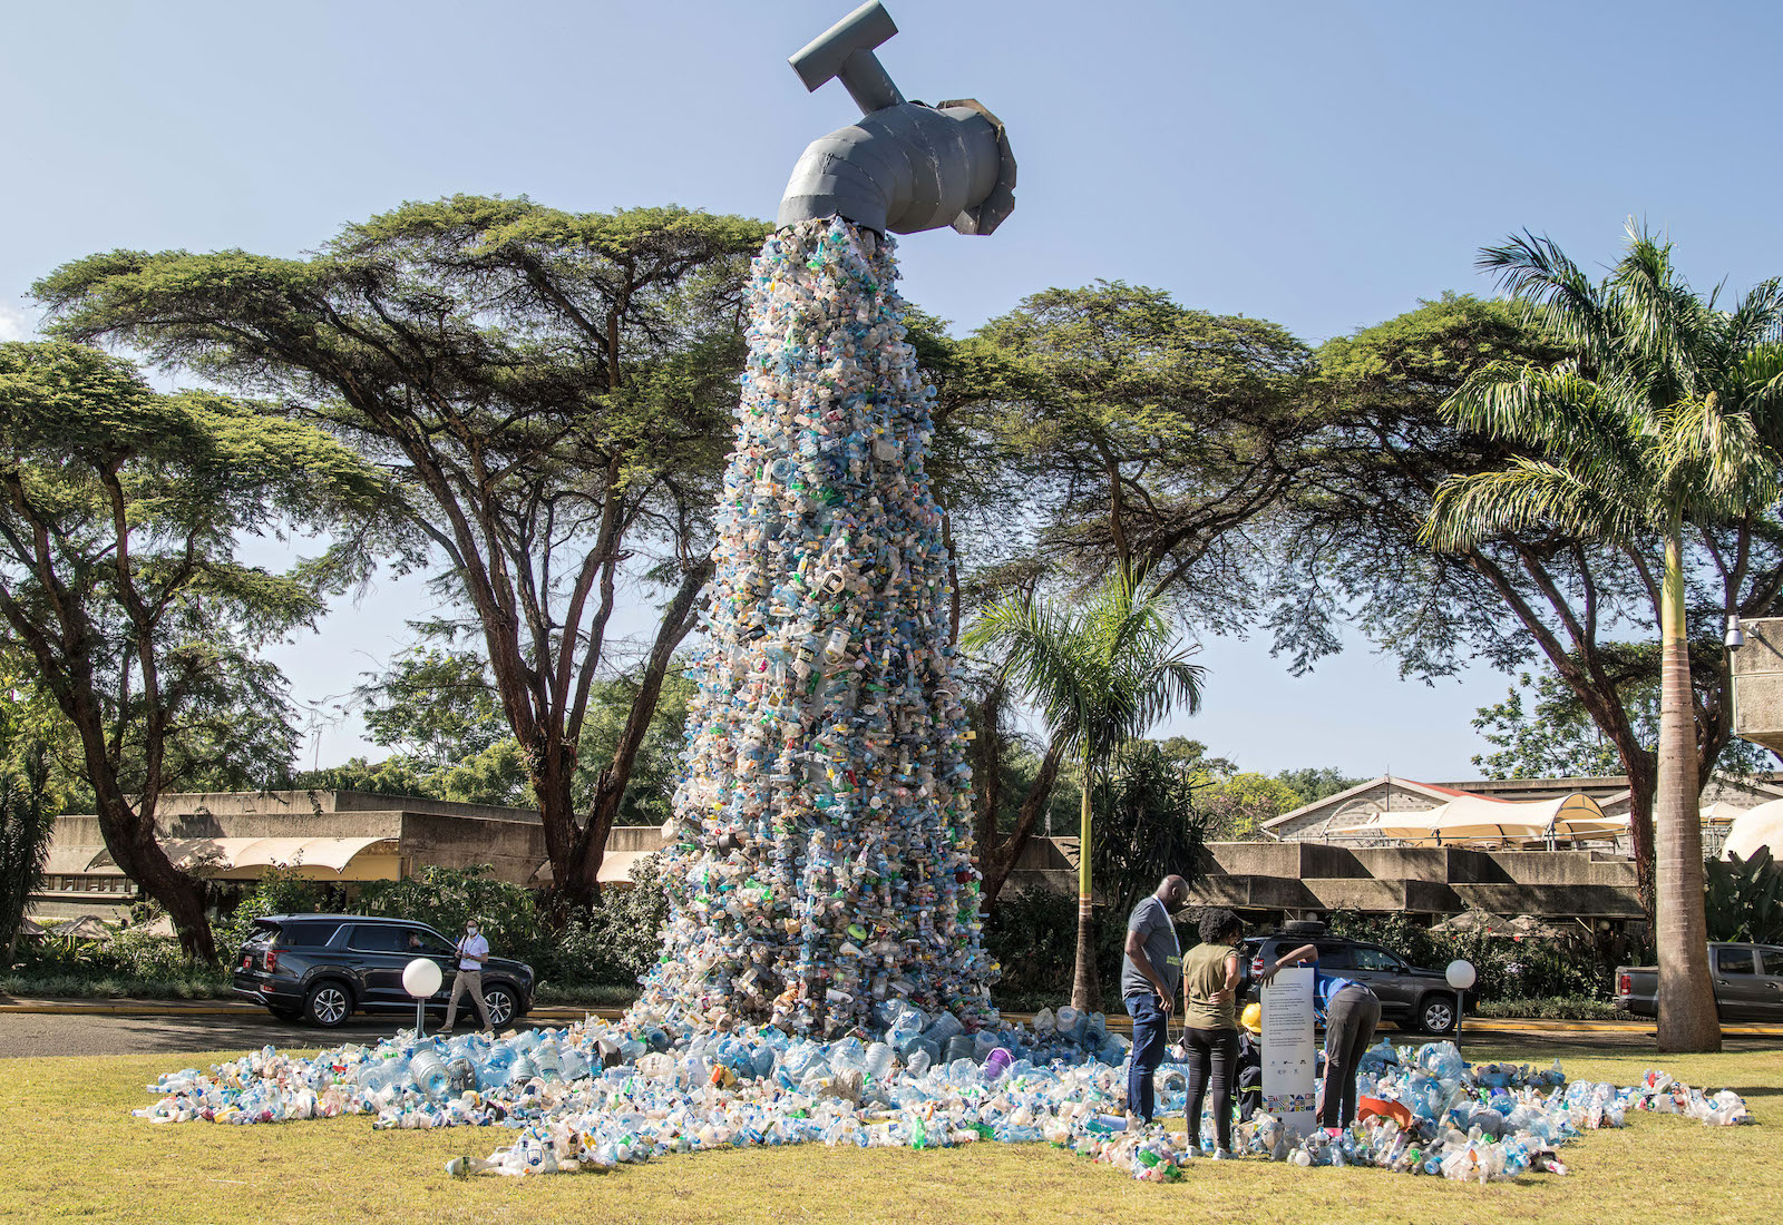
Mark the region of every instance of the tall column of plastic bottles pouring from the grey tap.
<instances>
[{"instance_id":1,"label":"tall column of plastic bottles pouring from the grey tap","mask_svg":"<svg viewBox=\"0 0 1783 1225\"><path fill-rule=\"evenodd\" d=\"M717 506L717 572L665 826L669 922L640 1015L840 1036L899 999L977 1027L966 712L952 675L934 388L892 240L772 235Z\"/></svg>"}]
</instances>

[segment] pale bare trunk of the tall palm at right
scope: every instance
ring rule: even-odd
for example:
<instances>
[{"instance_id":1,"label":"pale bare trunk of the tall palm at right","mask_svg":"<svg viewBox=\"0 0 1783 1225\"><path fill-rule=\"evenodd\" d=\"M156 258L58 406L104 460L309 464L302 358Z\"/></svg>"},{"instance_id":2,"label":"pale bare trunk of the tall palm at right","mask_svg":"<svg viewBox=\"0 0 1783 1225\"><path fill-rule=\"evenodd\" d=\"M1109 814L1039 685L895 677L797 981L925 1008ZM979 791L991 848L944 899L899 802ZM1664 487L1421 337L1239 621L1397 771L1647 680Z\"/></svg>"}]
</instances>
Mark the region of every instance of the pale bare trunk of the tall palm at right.
<instances>
[{"instance_id":1,"label":"pale bare trunk of the tall palm at right","mask_svg":"<svg viewBox=\"0 0 1783 1225\"><path fill-rule=\"evenodd\" d=\"M1685 639L1680 522L1665 534L1660 604L1660 760L1655 801L1658 903L1658 1049L1721 1051L1703 913L1703 819L1697 805L1696 716Z\"/></svg>"}]
</instances>

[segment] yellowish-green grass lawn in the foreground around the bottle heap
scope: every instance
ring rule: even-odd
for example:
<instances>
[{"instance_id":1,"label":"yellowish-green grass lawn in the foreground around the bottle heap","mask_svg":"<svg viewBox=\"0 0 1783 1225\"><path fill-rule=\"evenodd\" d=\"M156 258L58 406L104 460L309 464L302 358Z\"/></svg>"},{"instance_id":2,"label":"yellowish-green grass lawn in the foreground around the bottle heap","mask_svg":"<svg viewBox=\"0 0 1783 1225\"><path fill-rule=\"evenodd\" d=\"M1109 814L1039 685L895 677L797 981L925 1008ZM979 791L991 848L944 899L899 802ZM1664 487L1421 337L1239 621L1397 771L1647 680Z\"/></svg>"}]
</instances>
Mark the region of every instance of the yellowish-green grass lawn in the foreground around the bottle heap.
<instances>
[{"instance_id":1,"label":"yellowish-green grass lawn in the foreground around the bottle heap","mask_svg":"<svg viewBox=\"0 0 1783 1225\"><path fill-rule=\"evenodd\" d=\"M1560 1056L1573 1075L1633 1083L1655 1058L1467 1043L1473 1059ZM1047 1145L941 1152L754 1148L656 1157L612 1175L449 1179L506 1129L374 1132L367 1118L262 1127L152 1125L143 1086L225 1056L0 1059L0 1220L45 1221L1578 1221L1778 1220L1783 1052L1667 1058L1690 1084L1746 1095L1760 1125L1631 1115L1565 1148L1573 1177L1457 1186L1380 1170L1196 1163L1134 1182Z\"/></svg>"}]
</instances>

